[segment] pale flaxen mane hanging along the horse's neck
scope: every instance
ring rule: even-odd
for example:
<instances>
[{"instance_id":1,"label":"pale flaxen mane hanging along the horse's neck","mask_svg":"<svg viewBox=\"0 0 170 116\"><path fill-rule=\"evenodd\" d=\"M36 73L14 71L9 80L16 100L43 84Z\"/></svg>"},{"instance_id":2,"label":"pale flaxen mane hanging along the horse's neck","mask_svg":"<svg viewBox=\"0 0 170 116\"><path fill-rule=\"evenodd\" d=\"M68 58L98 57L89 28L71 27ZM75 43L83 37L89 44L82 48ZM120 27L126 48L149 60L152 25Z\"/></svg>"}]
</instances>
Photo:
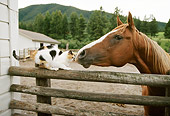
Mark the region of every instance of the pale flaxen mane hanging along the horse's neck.
<instances>
[{"instance_id":1,"label":"pale flaxen mane hanging along the horse's neck","mask_svg":"<svg viewBox=\"0 0 170 116\"><path fill-rule=\"evenodd\" d=\"M170 56L166 53L157 42L151 40L145 34L136 30L138 34L140 34L141 38L144 40L145 46L145 56L146 59L149 60L152 57L153 61L153 69L159 74L166 74L166 72L170 69ZM150 52L150 49L152 52Z\"/></svg>"}]
</instances>

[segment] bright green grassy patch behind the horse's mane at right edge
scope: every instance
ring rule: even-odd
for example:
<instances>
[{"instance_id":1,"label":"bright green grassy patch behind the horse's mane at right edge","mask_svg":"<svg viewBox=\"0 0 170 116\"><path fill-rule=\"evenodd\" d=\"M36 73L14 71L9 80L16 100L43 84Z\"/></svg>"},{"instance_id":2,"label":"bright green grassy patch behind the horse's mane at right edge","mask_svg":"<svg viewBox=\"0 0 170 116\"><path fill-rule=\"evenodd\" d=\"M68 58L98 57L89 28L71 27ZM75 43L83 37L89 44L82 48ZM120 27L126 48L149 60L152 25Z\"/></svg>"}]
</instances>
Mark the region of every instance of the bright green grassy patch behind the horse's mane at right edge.
<instances>
[{"instance_id":1,"label":"bright green grassy patch behind the horse's mane at right edge","mask_svg":"<svg viewBox=\"0 0 170 116\"><path fill-rule=\"evenodd\" d=\"M165 51L170 52L170 39L164 37L164 32L159 32L157 36L150 38L156 41Z\"/></svg>"}]
</instances>

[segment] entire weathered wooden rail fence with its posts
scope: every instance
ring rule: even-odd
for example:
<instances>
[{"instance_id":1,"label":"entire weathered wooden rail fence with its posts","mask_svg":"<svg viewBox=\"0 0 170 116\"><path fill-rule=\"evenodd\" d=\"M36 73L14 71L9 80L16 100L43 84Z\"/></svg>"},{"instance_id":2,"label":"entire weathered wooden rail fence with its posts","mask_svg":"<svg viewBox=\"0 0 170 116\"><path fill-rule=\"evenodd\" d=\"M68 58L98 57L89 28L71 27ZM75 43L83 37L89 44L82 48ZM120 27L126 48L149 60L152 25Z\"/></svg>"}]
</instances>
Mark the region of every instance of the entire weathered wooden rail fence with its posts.
<instances>
[{"instance_id":1,"label":"entire weathered wooden rail fence with its posts","mask_svg":"<svg viewBox=\"0 0 170 116\"><path fill-rule=\"evenodd\" d=\"M51 97L77 99L85 101L121 103L133 105L150 105L150 106L165 106L165 115L169 116L170 97L169 86L170 76L168 75L151 75L151 74L130 74L105 71L50 71L38 68L22 68L10 67L9 75L24 76L36 78L37 86L26 85L11 85L11 92L20 92L37 95L37 103L28 103L18 100L12 100L10 103L11 109L21 109L38 112L38 116L51 116L52 114L59 115L96 115L96 116L114 116L112 112L77 110L68 107L57 107L51 105ZM50 79L64 79L76 81L92 81L105 83L121 83L133 85L147 85L155 87L165 87L166 96L140 96L127 94L111 94L111 93L92 93L81 92L76 90L64 90L50 88ZM43 104L45 103L45 104Z\"/></svg>"}]
</instances>

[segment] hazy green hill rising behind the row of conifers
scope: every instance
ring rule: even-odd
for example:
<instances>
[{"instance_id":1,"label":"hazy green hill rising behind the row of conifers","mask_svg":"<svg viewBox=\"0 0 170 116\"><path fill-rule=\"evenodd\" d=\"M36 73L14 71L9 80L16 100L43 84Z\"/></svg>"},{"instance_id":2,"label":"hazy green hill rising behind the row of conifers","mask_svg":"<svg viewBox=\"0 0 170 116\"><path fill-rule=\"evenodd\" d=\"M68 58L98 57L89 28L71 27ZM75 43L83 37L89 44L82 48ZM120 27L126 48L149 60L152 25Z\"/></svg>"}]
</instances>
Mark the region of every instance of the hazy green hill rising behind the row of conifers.
<instances>
[{"instance_id":1,"label":"hazy green hill rising behind the row of conifers","mask_svg":"<svg viewBox=\"0 0 170 116\"><path fill-rule=\"evenodd\" d=\"M77 14L83 14L86 19L90 17L93 11L80 10L72 6L63 6L59 4L41 4L41 5L31 5L22 9L19 9L19 21L32 21L39 13L50 13L56 10L60 10L63 14L66 13L67 16L70 16L72 12ZM111 15L111 14L110 14Z\"/></svg>"}]
</instances>

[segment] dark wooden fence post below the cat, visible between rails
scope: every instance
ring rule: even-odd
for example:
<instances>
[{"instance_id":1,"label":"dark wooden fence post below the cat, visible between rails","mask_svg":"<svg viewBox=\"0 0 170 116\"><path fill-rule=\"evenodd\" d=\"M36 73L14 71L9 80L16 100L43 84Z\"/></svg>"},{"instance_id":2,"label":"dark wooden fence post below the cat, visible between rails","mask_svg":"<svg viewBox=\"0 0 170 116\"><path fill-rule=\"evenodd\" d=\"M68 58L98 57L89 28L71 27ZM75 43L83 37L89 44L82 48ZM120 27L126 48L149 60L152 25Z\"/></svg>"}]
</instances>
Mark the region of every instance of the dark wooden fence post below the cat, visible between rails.
<instances>
[{"instance_id":1,"label":"dark wooden fence post below the cat, visible between rails","mask_svg":"<svg viewBox=\"0 0 170 116\"><path fill-rule=\"evenodd\" d=\"M51 80L36 78L36 86L51 87ZM51 97L37 95L37 103L51 104ZM37 116L52 116L52 114L38 112Z\"/></svg>"}]
</instances>

